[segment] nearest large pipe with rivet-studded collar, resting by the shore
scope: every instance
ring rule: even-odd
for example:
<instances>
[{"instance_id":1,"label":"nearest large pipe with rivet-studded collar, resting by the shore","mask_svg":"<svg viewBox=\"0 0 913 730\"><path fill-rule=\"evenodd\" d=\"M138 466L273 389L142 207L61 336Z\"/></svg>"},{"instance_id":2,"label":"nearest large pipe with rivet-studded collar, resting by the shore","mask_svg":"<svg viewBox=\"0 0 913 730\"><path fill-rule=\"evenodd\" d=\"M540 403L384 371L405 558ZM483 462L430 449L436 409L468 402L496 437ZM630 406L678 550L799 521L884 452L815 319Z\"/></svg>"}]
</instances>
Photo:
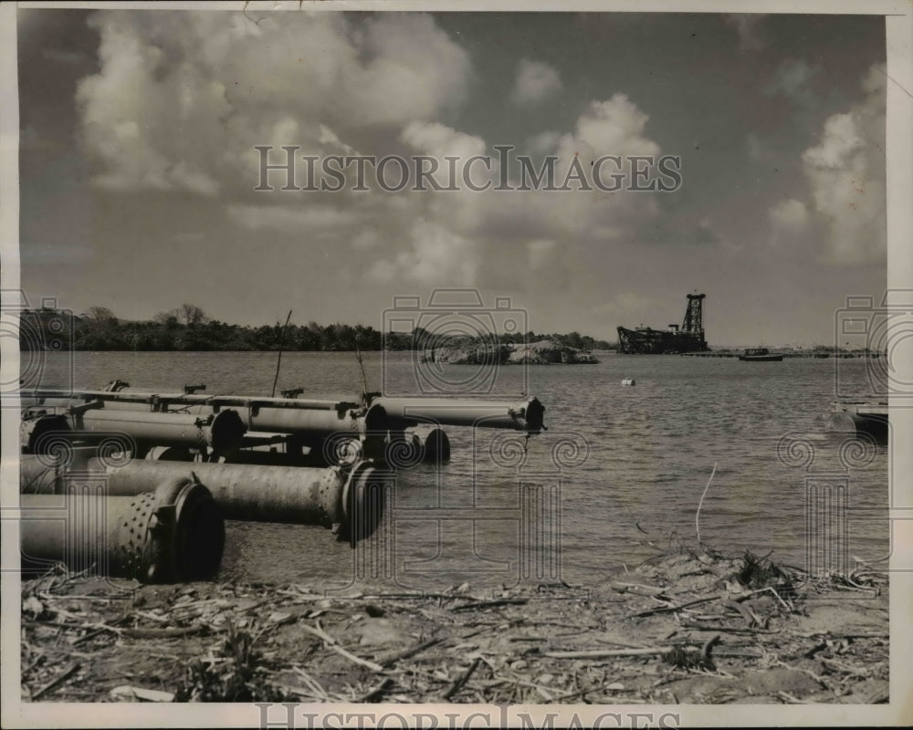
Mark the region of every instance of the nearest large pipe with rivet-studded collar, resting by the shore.
<instances>
[{"instance_id":1,"label":"nearest large pipe with rivet-studded collar, resting by the shore","mask_svg":"<svg viewBox=\"0 0 913 730\"><path fill-rule=\"evenodd\" d=\"M154 490L110 496L103 482L67 480L64 494L20 495L23 568L63 562L143 582L206 580L225 547L225 523L204 485L169 477Z\"/></svg>"}]
</instances>

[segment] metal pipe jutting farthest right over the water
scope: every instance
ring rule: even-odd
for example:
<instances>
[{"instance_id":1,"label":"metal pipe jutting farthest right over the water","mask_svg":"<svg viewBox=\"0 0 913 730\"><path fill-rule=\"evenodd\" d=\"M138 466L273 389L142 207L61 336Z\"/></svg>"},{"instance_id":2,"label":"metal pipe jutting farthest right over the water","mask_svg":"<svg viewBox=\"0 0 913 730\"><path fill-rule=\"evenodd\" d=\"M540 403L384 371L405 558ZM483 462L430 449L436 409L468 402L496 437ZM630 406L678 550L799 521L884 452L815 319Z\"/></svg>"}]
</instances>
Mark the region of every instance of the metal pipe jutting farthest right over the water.
<instances>
[{"instance_id":1,"label":"metal pipe jutting farthest right over the water","mask_svg":"<svg viewBox=\"0 0 913 730\"><path fill-rule=\"evenodd\" d=\"M544 414L545 408L535 397L516 402L380 397L371 401L364 421L369 432L436 423L540 433Z\"/></svg>"}]
</instances>

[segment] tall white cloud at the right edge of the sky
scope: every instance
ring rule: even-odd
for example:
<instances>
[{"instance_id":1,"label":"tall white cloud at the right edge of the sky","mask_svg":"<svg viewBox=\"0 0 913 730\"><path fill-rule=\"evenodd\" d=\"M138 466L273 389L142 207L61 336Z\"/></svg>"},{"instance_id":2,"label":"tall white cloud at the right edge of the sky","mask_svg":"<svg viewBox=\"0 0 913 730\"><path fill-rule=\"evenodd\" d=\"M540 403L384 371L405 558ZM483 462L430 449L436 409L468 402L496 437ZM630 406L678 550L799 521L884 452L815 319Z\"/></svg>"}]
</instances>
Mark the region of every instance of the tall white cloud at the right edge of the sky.
<instances>
[{"instance_id":1,"label":"tall white cloud at the right edge of the sky","mask_svg":"<svg viewBox=\"0 0 913 730\"><path fill-rule=\"evenodd\" d=\"M863 89L866 99L829 117L802 158L825 258L836 264L881 261L887 250L884 72L870 68Z\"/></svg>"}]
</instances>

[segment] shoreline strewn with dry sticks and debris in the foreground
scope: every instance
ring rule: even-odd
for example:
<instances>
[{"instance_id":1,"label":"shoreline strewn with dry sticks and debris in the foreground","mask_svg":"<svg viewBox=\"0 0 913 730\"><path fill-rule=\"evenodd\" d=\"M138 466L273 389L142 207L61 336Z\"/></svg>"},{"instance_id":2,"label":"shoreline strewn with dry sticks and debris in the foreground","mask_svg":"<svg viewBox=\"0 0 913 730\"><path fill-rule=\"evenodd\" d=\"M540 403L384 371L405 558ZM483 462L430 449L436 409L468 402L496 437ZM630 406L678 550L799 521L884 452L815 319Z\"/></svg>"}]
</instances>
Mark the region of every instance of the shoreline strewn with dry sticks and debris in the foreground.
<instances>
[{"instance_id":1,"label":"shoreline strewn with dry sticks and debris in the foreground","mask_svg":"<svg viewBox=\"0 0 913 730\"><path fill-rule=\"evenodd\" d=\"M678 548L567 583L327 596L52 571L22 589L24 701L876 704L887 575Z\"/></svg>"}]
</instances>

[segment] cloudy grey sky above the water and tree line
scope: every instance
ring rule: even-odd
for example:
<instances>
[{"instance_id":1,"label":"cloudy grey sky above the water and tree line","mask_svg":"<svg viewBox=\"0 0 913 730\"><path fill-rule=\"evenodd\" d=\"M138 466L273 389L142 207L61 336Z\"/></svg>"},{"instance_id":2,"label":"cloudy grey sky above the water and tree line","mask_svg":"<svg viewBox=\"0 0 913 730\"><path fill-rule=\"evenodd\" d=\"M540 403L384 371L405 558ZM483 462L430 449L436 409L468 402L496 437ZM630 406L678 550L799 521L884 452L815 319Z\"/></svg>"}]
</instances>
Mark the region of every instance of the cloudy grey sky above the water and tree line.
<instances>
[{"instance_id":1,"label":"cloudy grey sky above the water and tree line","mask_svg":"<svg viewBox=\"0 0 913 730\"><path fill-rule=\"evenodd\" d=\"M77 313L383 328L465 287L614 340L699 291L711 347L810 346L886 287L880 16L40 9L18 44L21 283ZM681 184L256 191L257 145L672 155Z\"/></svg>"}]
</instances>

